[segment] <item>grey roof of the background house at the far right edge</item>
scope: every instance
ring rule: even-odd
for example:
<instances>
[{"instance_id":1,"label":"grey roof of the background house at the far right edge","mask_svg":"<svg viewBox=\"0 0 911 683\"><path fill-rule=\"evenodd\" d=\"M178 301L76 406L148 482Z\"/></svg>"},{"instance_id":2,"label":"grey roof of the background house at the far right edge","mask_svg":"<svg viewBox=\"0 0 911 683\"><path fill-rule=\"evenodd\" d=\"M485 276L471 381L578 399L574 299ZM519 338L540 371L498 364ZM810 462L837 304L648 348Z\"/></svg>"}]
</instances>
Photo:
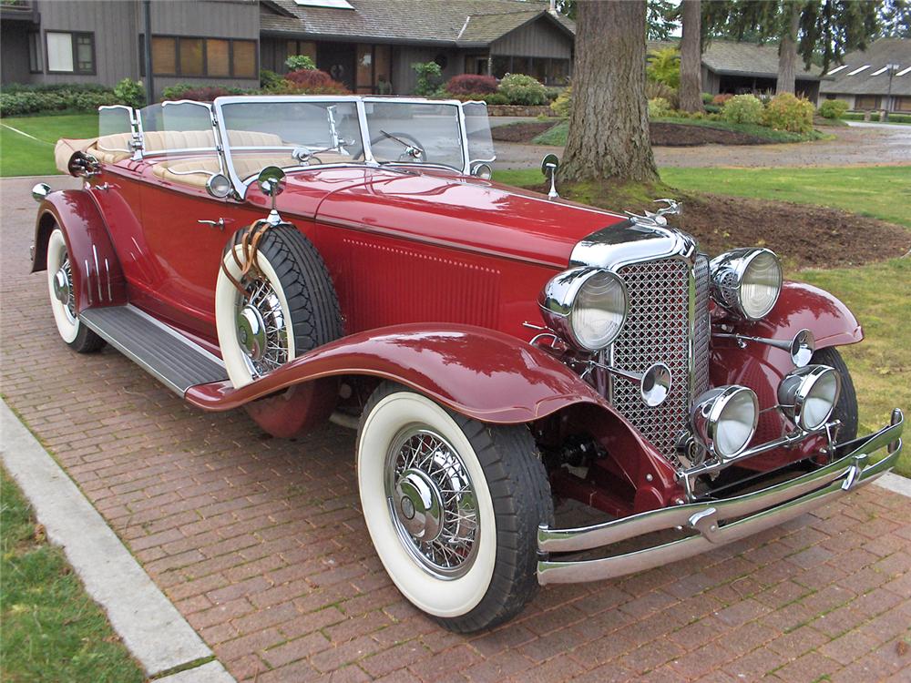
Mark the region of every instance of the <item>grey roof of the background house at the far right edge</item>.
<instances>
[{"instance_id":1,"label":"grey roof of the background house at the far right edge","mask_svg":"<svg viewBox=\"0 0 911 683\"><path fill-rule=\"evenodd\" d=\"M885 95L889 89L889 73L885 65L899 66L892 77L892 94L911 95L911 40L880 38L844 56L842 63L829 68L829 79L819 88L820 93L846 95ZM898 76L901 74L901 76Z\"/></svg>"}]
</instances>

